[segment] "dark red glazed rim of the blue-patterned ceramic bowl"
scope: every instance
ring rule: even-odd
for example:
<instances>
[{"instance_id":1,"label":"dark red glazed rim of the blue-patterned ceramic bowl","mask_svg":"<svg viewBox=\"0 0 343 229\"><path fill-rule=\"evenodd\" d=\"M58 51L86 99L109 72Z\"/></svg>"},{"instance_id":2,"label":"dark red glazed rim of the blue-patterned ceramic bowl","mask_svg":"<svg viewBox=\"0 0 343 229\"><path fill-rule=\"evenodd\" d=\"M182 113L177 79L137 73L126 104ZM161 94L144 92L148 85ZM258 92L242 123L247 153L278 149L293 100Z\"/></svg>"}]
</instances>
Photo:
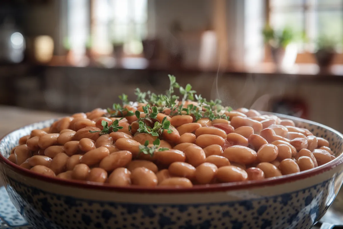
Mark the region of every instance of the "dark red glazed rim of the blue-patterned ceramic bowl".
<instances>
[{"instance_id":1,"label":"dark red glazed rim of the blue-patterned ceramic bowl","mask_svg":"<svg viewBox=\"0 0 343 229\"><path fill-rule=\"evenodd\" d=\"M271 112L263 112L265 114L274 114L277 115L278 117L282 117L285 119L292 119L294 121L298 122L305 122L308 124L320 126L324 129L327 129L339 137L341 137L343 141L343 135L339 133L338 131L332 129L331 127L312 122L306 119L302 118L296 118L288 115L281 115L281 114L275 114ZM32 125L32 124L31 124ZM30 126L30 125L27 125ZM21 127L16 130L25 128ZM14 131L16 131L14 130ZM9 134L11 134L11 131ZM7 135L9 135L7 134ZM7 136L5 135L5 136ZM4 136L4 137L5 137ZM3 137L3 138L4 138ZM3 139L1 138L0 141ZM307 171L303 171L297 174L290 174L290 175L283 175L278 178L268 178L264 179L261 181L242 181L242 182L232 182L232 183L221 183L221 184L208 184L208 185L196 185L192 188L169 188L169 187L137 187L137 186L129 186L129 187L115 187L115 186L110 186L109 184L103 184L103 185L98 185L95 183L85 183L82 181L70 181L70 180L64 180L60 178L52 178L50 176L38 174L35 172L32 172L30 170L24 169L20 167L17 164L14 164L13 162L9 161L7 158L5 158L2 153L0 152L0 163L2 166L6 166L8 169L19 173L21 175L27 176L29 178L37 179L40 181L45 181L45 182L54 182L55 184L60 184L62 186L70 186L70 187L76 187L76 188L85 188L85 189L91 189L91 190L99 190L99 191L114 191L114 192L130 192L130 193L199 193L199 192L225 192L225 191L233 191L233 190L243 190L247 188L257 188L257 187L263 187L263 186L273 186L273 185L278 185L278 184L283 184L283 183L288 183L288 182L294 182L298 181L301 179L306 179L311 176L318 175L320 173L329 171L338 165L342 164L343 162L343 154L341 153L337 158L334 160L330 161L327 164L323 164L319 167L316 167L314 169L310 169Z\"/></svg>"}]
</instances>

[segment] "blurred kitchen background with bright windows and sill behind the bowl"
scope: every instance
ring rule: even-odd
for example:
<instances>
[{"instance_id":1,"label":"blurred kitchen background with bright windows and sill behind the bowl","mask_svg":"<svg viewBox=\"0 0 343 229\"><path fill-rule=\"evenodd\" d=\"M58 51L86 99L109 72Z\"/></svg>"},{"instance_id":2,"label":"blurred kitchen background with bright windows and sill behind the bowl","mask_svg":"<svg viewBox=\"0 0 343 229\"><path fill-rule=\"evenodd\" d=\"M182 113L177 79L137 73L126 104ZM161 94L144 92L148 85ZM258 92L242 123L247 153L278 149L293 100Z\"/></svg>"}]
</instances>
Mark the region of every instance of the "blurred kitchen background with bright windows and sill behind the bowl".
<instances>
[{"instance_id":1,"label":"blurred kitchen background with bright windows and sill behind the bowl","mask_svg":"<svg viewBox=\"0 0 343 229\"><path fill-rule=\"evenodd\" d=\"M343 132L342 47L343 0L2 0L0 126L163 92L174 74L233 108Z\"/></svg>"}]
</instances>

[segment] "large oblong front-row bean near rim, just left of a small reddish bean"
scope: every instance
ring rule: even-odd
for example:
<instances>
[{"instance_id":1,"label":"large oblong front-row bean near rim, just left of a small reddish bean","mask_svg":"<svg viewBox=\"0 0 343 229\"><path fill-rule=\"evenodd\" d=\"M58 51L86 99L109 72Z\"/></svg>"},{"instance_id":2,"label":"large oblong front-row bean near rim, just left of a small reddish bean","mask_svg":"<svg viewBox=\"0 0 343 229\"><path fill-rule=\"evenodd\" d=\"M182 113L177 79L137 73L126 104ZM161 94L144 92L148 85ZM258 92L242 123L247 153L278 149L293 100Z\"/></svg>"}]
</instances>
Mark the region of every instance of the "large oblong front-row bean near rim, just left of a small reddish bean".
<instances>
[{"instance_id":1,"label":"large oblong front-row bean near rim, just left of a small reddish bean","mask_svg":"<svg viewBox=\"0 0 343 229\"><path fill-rule=\"evenodd\" d=\"M248 174L241 168L228 165L218 168L216 178L221 182L239 182L246 181Z\"/></svg>"}]
</instances>

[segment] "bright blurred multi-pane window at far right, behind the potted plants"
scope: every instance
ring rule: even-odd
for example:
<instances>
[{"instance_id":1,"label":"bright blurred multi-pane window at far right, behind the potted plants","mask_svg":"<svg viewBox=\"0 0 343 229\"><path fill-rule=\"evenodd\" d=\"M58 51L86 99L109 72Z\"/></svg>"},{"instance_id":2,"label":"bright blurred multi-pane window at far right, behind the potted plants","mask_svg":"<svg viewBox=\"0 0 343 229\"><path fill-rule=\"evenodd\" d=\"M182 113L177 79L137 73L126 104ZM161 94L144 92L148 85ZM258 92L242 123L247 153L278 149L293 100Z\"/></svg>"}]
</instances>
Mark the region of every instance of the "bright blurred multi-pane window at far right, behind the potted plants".
<instances>
[{"instance_id":1,"label":"bright blurred multi-pane window at far right, behind the potted plants","mask_svg":"<svg viewBox=\"0 0 343 229\"><path fill-rule=\"evenodd\" d=\"M316 41L326 37L340 48L343 43L343 0L267 0L269 24L276 30L289 26L306 34L298 41L300 52L314 52Z\"/></svg>"}]
</instances>

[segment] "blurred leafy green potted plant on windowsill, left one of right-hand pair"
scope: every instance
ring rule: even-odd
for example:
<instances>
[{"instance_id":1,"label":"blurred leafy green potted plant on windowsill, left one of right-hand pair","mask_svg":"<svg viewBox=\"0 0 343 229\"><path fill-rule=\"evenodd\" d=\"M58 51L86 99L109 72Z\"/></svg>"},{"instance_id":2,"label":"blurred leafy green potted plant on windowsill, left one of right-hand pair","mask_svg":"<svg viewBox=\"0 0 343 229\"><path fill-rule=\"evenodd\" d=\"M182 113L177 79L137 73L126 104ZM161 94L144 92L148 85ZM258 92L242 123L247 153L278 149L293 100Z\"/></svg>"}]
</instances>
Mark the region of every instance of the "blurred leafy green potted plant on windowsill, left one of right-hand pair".
<instances>
[{"instance_id":1,"label":"blurred leafy green potted plant on windowsill, left one of right-hand pair","mask_svg":"<svg viewBox=\"0 0 343 229\"><path fill-rule=\"evenodd\" d=\"M282 31L277 32L267 25L264 27L262 34L264 43L270 48L271 57L277 70L281 70L286 65L294 64L297 50L295 46L288 48L295 40L295 35L290 28L285 27Z\"/></svg>"}]
</instances>

